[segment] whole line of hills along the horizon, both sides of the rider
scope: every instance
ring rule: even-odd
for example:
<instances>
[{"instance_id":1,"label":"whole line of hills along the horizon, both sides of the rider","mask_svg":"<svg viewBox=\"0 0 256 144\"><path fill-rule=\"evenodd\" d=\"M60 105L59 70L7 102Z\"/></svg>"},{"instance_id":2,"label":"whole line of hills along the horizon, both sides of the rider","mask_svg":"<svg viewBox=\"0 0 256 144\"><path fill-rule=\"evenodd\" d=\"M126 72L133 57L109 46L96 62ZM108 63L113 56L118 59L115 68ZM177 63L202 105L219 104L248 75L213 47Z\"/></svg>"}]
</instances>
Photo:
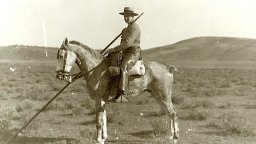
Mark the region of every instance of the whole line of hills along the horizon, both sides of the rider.
<instances>
[{"instance_id":1,"label":"whole line of hills along the horizon, both sides of the rider","mask_svg":"<svg viewBox=\"0 0 256 144\"><path fill-rule=\"evenodd\" d=\"M143 49L143 48L142 48ZM57 48L12 45L0 47L0 60L56 61ZM98 50L100 51L100 50ZM255 67L256 40L249 38L198 37L145 49L144 61L160 61L177 67Z\"/></svg>"}]
</instances>

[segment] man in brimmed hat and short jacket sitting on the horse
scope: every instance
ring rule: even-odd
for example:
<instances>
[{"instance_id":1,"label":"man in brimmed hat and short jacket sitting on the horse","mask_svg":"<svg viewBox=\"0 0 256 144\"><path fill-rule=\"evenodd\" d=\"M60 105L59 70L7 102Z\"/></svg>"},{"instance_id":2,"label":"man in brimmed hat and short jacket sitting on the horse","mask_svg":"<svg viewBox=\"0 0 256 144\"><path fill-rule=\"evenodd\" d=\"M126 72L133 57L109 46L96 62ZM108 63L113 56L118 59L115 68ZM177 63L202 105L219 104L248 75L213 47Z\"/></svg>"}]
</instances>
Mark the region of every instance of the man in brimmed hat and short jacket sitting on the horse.
<instances>
[{"instance_id":1,"label":"man in brimmed hat and short jacket sitting on the horse","mask_svg":"<svg viewBox=\"0 0 256 144\"><path fill-rule=\"evenodd\" d=\"M119 14L124 15L124 21L128 24L128 27L122 33L121 43L115 48L109 49L109 54L122 52L122 62L120 64L121 79L119 82L119 91L114 100L117 100L119 96L126 96L129 77L127 69L141 58L140 28L134 22L134 16L138 14L134 13L132 7L124 7L124 12L120 12Z\"/></svg>"}]
</instances>

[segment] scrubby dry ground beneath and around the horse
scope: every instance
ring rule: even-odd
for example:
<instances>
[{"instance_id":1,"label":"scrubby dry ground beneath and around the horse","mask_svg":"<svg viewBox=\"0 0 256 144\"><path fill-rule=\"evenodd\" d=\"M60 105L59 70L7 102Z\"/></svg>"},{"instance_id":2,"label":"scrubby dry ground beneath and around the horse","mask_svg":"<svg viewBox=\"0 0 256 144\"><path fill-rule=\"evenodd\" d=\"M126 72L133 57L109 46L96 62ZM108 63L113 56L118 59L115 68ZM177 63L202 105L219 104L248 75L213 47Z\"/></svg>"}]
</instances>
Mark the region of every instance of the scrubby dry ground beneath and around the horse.
<instances>
[{"instance_id":1,"label":"scrubby dry ground beneath and around the horse","mask_svg":"<svg viewBox=\"0 0 256 144\"><path fill-rule=\"evenodd\" d=\"M13 70L12 70L12 69ZM6 142L66 83L53 64L0 63L0 143ZM180 68L173 103L178 143L256 143L256 70ZM108 103L108 139L114 143L172 143L168 117L142 93L129 103ZM11 143L95 143L93 101L83 79L72 83Z\"/></svg>"}]
</instances>

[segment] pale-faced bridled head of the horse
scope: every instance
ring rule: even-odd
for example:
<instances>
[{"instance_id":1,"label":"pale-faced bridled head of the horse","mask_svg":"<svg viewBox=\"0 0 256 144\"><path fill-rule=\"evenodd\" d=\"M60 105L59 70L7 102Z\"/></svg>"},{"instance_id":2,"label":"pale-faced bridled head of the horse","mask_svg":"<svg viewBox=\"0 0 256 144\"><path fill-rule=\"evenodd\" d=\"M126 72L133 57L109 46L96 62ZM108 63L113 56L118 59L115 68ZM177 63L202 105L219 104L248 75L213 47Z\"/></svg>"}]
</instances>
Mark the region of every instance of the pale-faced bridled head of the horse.
<instances>
[{"instance_id":1,"label":"pale-faced bridled head of the horse","mask_svg":"<svg viewBox=\"0 0 256 144\"><path fill-rule=\"evenodd\" d=\"M65 38L57 54L58 65L56 67L56 78L66 80L72 66L75 64L77 55L70 50L68 40Z\"/></svg>"}]
</instances>

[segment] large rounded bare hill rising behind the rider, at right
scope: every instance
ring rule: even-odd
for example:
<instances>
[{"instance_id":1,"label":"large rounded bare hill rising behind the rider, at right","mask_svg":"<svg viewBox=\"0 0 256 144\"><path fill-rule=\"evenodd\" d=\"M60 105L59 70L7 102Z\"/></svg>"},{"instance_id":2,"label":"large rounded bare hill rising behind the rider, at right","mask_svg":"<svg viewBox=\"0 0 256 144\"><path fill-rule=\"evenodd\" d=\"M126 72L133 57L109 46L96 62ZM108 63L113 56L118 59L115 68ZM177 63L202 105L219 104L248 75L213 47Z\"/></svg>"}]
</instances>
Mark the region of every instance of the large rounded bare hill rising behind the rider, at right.
<instances>
[{"instance_id":1,"label":"large rounded bare hill rising behind the rider, at right","mask_svg":"<svg viewBox=\"0 0 256 144\"><path fill-rule=\"evenodd\" d=\"M254 61L256 40L198 37L145 50L143 56L158 61Z\"/></svg>"}]
</instances>

